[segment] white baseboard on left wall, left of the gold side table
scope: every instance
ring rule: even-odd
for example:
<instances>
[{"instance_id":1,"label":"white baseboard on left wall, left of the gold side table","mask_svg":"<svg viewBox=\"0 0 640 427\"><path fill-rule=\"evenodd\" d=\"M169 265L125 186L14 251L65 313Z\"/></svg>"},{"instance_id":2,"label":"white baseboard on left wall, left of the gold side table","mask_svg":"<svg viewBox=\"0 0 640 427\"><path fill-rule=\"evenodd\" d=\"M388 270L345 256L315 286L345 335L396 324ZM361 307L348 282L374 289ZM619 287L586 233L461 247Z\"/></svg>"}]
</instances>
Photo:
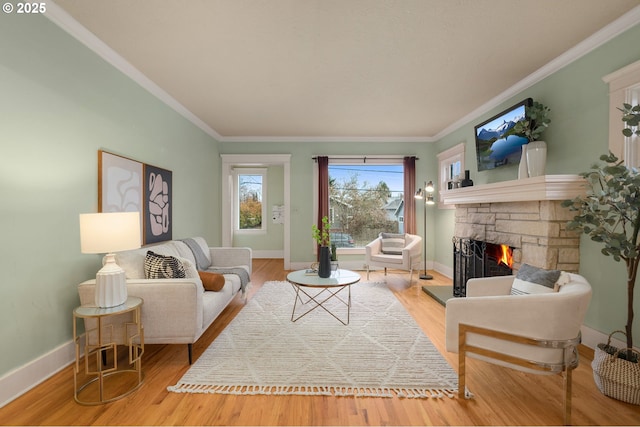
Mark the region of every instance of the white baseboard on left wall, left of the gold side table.
<instances>
[{"instance_id":1,"label":"white baseboard on left wall, left of the gold side table","mask_svg":"<svg viewBox=\"0 0 640 427\"><path fill-rule=\"evenodd\" d=\"M54 348L0 377L0 408L17 399L76 360L73 341ZM69 378L73 381L73 378Z\"/></svg>"}]
</instances>

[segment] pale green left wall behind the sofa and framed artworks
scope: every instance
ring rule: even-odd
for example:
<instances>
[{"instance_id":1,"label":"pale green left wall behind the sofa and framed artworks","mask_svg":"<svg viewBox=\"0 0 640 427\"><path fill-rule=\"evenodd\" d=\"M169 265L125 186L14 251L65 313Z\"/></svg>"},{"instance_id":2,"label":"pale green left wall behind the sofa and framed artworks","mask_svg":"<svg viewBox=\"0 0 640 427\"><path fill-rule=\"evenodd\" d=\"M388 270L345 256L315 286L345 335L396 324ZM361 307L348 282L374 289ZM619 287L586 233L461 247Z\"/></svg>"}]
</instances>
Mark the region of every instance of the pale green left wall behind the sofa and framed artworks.
<instances>
[{"instance_id":1,"label":"pale green left wall behind the sofa and framed artworks","mask_svg":"<svg viewBox=\"0 0 640 427\"><path fill-rule=\"evenodd\" d=\"M44 17L0 15L0 376L71 340L97 151L173 171L173 235L220 241L218 143Z\"/></svg>"}]
</instances>

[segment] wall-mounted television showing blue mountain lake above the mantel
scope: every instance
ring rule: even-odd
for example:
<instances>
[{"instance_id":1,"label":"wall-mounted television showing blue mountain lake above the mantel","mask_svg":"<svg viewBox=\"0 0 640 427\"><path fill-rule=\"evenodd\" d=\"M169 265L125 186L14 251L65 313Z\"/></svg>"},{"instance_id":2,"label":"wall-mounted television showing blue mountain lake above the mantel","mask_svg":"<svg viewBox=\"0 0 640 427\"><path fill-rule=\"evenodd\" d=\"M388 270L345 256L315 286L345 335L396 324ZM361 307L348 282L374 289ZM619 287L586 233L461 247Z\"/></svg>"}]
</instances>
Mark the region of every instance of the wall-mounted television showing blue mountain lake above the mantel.
<instances>
[{"instance_id":1,"label":"wall-mounted television showing blue mountain lake above the mantel","mask_svg":"<svg viewBox=\"0 0 640 427\"><path fill-rule=\"evenodd\" d=\"M525 107L532 103L533 100L527 98L475 126L478 171L520 162L522 146L529 141L516 135L513 128L525 120Z\"/></svg>"}]
</instances>

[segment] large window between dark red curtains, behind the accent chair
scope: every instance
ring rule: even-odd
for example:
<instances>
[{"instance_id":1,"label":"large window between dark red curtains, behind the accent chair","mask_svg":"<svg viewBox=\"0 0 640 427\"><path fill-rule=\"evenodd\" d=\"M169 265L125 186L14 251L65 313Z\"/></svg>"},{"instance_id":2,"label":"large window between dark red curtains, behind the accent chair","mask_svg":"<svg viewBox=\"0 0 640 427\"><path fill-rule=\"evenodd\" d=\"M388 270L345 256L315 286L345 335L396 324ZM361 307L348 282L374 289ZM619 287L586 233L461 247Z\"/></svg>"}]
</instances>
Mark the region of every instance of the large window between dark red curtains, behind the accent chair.
<instances>
[{"instance_id":1,"label":"large window between dark red curtains, behind the accent chair","mask_svg":"<svg viewBox=\"0 0 640 427\"><path fill-rule=\"evenodd\" d=\"M336 247L362 248L380 232L404 233L402 159L331 159L329 213Z\"/></svg>"}]
</instances>

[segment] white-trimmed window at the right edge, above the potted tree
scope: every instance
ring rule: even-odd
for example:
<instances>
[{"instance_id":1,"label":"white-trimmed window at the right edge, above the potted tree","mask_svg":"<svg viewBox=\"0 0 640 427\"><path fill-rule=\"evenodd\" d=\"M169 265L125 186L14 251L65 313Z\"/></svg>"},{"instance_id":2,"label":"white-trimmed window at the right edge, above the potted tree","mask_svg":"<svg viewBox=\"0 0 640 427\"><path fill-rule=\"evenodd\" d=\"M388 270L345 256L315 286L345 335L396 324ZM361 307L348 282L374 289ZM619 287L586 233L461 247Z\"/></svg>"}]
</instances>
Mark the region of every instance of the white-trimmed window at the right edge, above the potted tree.
<instances>
[{"instance_id":1,"label":"white-trimmed window at the right edge, above the potted tree","mask_svg":"<svg viewBox=\"0 0 640 427\"><path fill-rule=\"evenodd\" d=\"M624 123L618 108L627 103L640 103L640 61L608 74L602 78L609 84L609 150L627 167L640 167L640 138L622 135Z\"/></svg>"}]
</instances>

